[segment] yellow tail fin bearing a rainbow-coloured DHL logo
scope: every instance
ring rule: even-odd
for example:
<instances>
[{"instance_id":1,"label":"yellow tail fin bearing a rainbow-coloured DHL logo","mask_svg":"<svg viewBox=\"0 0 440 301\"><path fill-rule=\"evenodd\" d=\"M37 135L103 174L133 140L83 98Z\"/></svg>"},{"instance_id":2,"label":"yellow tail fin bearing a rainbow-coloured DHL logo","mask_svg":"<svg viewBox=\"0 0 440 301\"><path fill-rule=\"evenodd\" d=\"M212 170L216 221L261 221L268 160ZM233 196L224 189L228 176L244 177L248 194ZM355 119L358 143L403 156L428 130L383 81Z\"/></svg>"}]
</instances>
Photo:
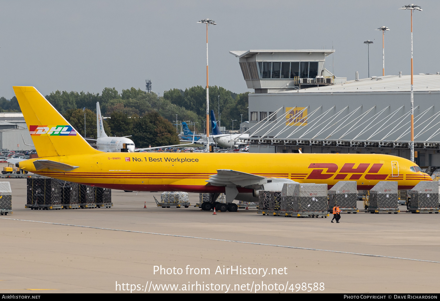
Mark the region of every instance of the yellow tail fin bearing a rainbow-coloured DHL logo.
<instances>
[{"instance_id":1,"label":"yellow tail fin bearing a rainbow-coloured DHL logo","mask_svg":"<svg viewBox=\"0 0 440 301\"><path fill-rule=\"evenodd\" d=\"M99 152L77 133L36 88L13 88L39 157Z\"/></svg>"}]
</instances>

